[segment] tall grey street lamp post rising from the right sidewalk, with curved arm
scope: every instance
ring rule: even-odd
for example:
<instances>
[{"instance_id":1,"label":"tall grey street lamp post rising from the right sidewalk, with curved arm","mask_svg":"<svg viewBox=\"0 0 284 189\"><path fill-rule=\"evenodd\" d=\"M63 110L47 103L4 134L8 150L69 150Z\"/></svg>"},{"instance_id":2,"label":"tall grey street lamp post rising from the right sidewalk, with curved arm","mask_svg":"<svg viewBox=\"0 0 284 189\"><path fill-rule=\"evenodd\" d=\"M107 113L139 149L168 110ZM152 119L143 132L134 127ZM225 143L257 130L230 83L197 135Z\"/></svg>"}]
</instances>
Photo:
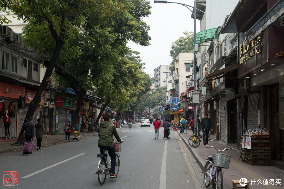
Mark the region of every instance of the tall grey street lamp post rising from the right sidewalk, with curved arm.
<instances>
[{"instance_id":1,"label":"tall grey street lamp post rising from the right sidewalk, with curved arm","mask_svg":"<svg viewBox=\"0 0 284 189\"><path fill-rule=\"evenodd\" d=\"M196 2L194 1L194 7L190 6L190 5L186 5L184 3L177 3L177 2L168 2L168 1L154 1L154 3L176 3L176 4L180 4L180 5L183 5L185 6L186 8L189 9L189 7L193 8L193 11L191 9L189 9L193 15L194 15L194 46L193 46L193 50L194 50L194 80L195 80L195 84L194 84L194 92L197 91L197 61L196 61L196 54L197 54L197 51L198 51L198 45L196 44ZM197 9L199 10L199 9ZM202 13L205 13L203 12L202 10L199 10L201 11ZM194 125L197 126L197 108L196 108L196 104L194 104Z\"/></svg>"}]
</instances>

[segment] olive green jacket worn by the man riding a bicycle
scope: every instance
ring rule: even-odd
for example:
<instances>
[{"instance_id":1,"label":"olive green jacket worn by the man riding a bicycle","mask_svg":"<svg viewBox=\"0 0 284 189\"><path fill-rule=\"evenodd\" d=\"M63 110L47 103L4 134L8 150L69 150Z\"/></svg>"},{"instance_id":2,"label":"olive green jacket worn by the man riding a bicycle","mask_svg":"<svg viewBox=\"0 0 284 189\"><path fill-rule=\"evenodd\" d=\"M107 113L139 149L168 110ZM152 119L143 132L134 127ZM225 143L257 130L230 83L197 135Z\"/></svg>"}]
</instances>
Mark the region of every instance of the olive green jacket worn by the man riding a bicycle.
<instances>
[{"instance_id":1,"label":"olive green jacket worn by the man riding a bicycle","mask_svg":"<svg viewBox=\"0 0 284 189\"><path fill-rule=\"evenodd\" d=\"M112 146L113 145L113 138L116 138L118 142L121 143L121 139L118 136L116 128L108 121L104 121L99 125L99 141L98 146Z\"/></svg>"}]
</instances>

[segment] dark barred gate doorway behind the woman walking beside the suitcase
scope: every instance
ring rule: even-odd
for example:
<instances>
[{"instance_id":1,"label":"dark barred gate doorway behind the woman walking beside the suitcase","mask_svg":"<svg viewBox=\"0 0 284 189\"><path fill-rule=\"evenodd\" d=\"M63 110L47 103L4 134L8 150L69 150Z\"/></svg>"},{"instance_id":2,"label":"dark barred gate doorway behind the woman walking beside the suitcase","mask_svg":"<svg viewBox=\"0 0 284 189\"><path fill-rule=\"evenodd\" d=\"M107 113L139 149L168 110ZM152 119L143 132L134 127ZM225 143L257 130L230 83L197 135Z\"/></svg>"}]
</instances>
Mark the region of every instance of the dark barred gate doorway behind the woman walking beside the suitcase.
<instances>
[{"instance_id":1,"label":"dark barred gate doorway behind the woman walking beside the suitcase","mask_svg":"<svg viewBox=\"0 0 284 189\"><path fill-rule=\"evenodd\" d=\"M52 123L53 123L53 108L52 107L41 107L39 110L39 117L45 127L47 134L52 134Z\"/></svg>"}]
</instances>

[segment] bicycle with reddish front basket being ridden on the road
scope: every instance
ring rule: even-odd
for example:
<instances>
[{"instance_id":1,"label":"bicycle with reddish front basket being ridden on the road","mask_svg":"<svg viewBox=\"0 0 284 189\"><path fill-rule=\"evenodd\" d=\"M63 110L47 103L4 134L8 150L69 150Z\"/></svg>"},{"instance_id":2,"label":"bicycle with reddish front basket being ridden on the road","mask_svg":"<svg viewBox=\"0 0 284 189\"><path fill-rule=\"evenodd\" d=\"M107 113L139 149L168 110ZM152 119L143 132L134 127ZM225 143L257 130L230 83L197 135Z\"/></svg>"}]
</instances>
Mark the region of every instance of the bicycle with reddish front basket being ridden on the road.
<instances>
[{"instance_id":1,"label":"bicycle with reddish front basket being ridden on the road","mask_svg":"<svg viewBox=\"0 0 284 189\"><path fill-rule=\"evenodd\" d=\"M118 152L121 152L121 143L118 141L115 141L113 142L113 144L114 144L114 149L116 152L115 174L118 175L119 164L120 164ZM95 173L95 175L98 175L98 180L100 184L104 184L106 180L106 175L110 175L110 161L108 162L107 149L103 148L102 150L105 153L97 154L98 167L97 167L97 172Z\"/></svg>"}]
</instances>

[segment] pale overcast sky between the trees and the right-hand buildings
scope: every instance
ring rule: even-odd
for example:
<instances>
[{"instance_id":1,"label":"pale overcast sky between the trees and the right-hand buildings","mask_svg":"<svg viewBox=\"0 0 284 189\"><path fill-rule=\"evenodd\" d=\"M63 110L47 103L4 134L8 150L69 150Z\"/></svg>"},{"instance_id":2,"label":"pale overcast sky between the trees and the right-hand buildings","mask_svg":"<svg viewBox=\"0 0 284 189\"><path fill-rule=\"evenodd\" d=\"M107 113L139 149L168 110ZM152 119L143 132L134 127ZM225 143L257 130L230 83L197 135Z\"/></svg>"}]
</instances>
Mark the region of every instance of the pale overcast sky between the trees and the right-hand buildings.
<instances>
[{"instance_id":1,"label":"pale overcast sky between the trees and the right-hand buildings","mask_svg":"<svg viewBox=\"0 0 284 189\"><path fill-rule=\"evenodd\" d=\"M174 0L170 2L184 3L194 6L193 0ZM133 51L140 52L140 58L145 63L145 72L151 77L154 76L154 69L160 65L170 65L171 45L179 37L184 36L183 31L194 32L194 19L191 18L191 11L186 7L175 3L154 3L150 0L152 6L149 18L143 20L151 29L149 35L151 41L149 46L140 46L134 43L128 43ZM191 8L192 10L192 8ZM200 31L200 21L196 20L196 31Z\"/></svg>"}]
</instances>

